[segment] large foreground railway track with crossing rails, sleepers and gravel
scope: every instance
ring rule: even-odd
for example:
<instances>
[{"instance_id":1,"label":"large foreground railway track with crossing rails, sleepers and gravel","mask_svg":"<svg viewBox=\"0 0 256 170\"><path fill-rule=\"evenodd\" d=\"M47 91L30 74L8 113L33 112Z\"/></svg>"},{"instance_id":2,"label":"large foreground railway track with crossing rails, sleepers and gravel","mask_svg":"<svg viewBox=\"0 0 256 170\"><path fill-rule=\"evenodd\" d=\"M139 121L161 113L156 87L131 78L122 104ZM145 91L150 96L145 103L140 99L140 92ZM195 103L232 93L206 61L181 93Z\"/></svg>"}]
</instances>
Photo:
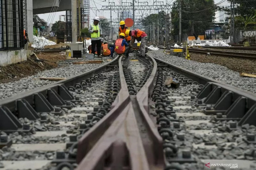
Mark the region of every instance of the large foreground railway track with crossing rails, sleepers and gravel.
<instances>
[{"instance_id":1,"label":"large foreground railway track with crossing rails, sleepers and gravel","mask_svg":"<svg viewBox=\"0 0 256 170\"><path fill-rule=\"evenodd\" d=\"M252 169L255 112L252 93L149 55L117 56L1 100L0 170Z\"/></svg>"}]
</instances>

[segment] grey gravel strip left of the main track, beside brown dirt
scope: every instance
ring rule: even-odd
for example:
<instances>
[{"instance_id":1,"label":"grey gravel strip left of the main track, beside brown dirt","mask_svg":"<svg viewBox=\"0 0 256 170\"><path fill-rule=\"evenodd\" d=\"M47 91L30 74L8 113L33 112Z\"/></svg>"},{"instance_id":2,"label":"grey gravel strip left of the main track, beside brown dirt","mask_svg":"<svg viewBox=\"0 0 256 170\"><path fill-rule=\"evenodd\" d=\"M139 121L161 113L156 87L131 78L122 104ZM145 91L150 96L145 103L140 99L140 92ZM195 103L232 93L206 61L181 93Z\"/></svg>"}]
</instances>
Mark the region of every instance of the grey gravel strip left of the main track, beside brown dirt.
<instances>
[{"instance_id":1,"label":"grey gravel strip left of the main track, beside brown dirt","mask_svg":"<svg viewBox=\"0 0 256 170\"><path fill-rule=\"evenodd\" d=\"M67 66L63 68L45 70L40 73L37 73L36 75L22 78L17 81L0 84L0 99L5 99L22 92L26 92L32 89L36 89L38 87L42 87L44 85L49 85L54 83L54 81L40 80L39 79L40 77L55 77L55 78L72 77L74 75L78 75L85 71L92 70L96 67L99 67L109 62L107 61L108 59L113 59L113 58L104 57L101 59L103 60L103 63L100 63L100 64L72 64L73 62L88 61L88 60L76 60L76 59L72 61L71 60L60 61L59 66L65 65L65 64L67 64Z\"/></svg>"}]
</instances>

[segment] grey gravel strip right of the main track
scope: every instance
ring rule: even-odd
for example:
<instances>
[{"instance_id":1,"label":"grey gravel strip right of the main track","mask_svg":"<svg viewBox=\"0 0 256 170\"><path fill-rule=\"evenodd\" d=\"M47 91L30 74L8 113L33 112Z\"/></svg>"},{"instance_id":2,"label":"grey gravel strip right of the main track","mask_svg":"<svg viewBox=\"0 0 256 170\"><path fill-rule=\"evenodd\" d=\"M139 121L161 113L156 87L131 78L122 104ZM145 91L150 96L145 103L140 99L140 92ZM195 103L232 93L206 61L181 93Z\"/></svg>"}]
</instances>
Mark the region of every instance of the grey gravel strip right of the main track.
<instances>
[{"instance_id":1,"label":"grey gravel strip right of the main track","mask_svg":"<svg viewBox=\"0 0 256 170\"><path fill-rule=\"evenodd\" d=\"M240 77L238 72L229 70L224 66L213 63L199 63L185 58L164 54L161 51L149 51L148 55L154 56L168 63L175 64L198 74L222 81L245 91L256 93L256 78Z\"/></svg>"}]
</instances>

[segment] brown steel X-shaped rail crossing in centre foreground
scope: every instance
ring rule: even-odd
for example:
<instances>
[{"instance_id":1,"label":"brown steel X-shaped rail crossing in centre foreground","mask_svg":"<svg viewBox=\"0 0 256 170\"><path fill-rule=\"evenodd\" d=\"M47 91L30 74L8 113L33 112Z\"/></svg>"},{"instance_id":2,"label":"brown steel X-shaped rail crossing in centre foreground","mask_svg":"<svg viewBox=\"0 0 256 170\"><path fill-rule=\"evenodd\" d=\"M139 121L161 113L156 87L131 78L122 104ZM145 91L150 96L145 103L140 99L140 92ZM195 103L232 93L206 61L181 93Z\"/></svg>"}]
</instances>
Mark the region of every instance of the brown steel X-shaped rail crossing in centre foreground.
<instances>
[{"instance_id":1,"label":"brown steel X-shaped rail crossing in centre foreground","mask_svg":"<svg viewBox=\"0 0 256 170\"><path fill-rule=\"evenodd\" d=\"M79 140L77 170L163 169L162 137L149 117L148 92L152 88L157 64L137 93L130 95L119 59L121 90L115 107ZM142 129L141 129L142 128Z\"/></svg>"}]
</instances>

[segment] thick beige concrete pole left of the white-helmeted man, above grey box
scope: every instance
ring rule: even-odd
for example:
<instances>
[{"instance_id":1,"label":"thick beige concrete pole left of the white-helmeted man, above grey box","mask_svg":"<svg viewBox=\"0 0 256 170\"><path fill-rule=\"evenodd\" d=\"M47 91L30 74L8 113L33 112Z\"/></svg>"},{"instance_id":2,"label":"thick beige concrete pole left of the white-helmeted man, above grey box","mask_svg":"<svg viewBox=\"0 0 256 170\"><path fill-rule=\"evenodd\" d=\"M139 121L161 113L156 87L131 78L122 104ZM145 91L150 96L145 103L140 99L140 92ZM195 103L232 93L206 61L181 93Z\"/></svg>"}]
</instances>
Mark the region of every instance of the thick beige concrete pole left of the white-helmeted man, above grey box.
<instances>
[{"instance_id":1,"label":"thick beige concrete pole left of the white-helmeted man, above grey box","mask_svg":"<svg viewBox=\"0 0 256 170\"><path fill-rule=\"evenodd\" d=\"M77 2L71 0L71 15L72 15L72 43L77 41Z\"/></svg>"}]
</instances>

